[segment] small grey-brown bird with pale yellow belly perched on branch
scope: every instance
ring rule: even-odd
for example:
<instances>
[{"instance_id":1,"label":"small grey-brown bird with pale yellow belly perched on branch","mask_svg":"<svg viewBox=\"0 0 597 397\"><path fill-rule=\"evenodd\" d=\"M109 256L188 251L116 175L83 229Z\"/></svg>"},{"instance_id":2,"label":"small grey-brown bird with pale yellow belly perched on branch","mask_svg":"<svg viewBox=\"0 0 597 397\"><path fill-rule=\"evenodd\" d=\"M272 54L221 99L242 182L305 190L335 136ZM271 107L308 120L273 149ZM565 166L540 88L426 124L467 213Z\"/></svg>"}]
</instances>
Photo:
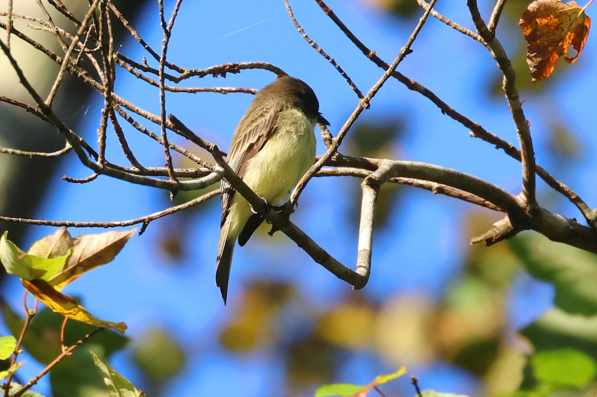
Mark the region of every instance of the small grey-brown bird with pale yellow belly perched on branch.
<instances>
[{"instance_id":1,"label":"small grey-brown bird with pale yellow belly perched on branch","mask_svg":"<svg viewBox=\"0 0 597 397\"><path fill-rule=\"evenodd\" d=\"M315 92L290 76L257 92L236 127L226 161L242 180L268 203L288 200L291 190L315 162L315 124L330 125L319 114ZM216 286L224 305L236 239L244 246L263 222L250 204L224 179Z\"/></svg>"}]
</instances>

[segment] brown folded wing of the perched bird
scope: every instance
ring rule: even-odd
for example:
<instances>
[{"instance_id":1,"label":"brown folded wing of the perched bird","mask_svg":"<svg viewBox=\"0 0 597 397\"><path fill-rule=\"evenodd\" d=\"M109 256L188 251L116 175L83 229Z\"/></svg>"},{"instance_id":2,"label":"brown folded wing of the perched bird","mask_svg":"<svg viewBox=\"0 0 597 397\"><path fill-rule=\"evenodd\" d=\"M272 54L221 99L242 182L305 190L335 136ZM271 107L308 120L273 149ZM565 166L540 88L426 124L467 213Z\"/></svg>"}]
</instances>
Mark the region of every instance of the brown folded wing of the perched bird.
<instances>
[{"instance_id":1,"label":"brown folded wing of the perched bird","mask_svg":"<svg viewBox=\"0 0 597 397\"><path fill-rule=\"evenodd\" d=\"M250 160L263 148L267 139L273 134L279 109L276 107L267 107L259 114L253 113L248 111L247 114L250 117L245 115L238 124L238 127L236 127L232 143L230 144L230 150L226 157L230 168L241 178L247 172ZM221 188L222 219L220 227L224 225L224 220L226 219L230 204L232 204L232 197L235 193L235 190L224 179L222 179Z\"/></svg>"}]
</instances>

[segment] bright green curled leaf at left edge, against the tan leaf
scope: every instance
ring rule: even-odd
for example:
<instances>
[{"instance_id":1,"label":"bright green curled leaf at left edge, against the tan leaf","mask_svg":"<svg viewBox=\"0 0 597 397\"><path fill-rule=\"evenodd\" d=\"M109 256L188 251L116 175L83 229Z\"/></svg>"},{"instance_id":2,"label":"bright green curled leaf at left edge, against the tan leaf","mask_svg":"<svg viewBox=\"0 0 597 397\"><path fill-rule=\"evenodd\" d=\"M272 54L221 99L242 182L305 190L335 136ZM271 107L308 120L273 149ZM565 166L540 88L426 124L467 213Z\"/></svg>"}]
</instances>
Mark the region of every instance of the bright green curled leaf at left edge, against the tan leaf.
<instances>
[{"instance_id":1,"label":"bright green curled leaf at left edge, against the tan leaf","mask_svg":"<svg viewBox=\"0 0 597 397\"><path fill-rule=\"evenodd\" d=\"M6 231L0 237L0 262L8 273L23 280L33 280L34 278L49 280L60 271L70 255L70 250L66 255L53 259L30 255L8 240L7 235Z\"/></svg>"}]
</instances>

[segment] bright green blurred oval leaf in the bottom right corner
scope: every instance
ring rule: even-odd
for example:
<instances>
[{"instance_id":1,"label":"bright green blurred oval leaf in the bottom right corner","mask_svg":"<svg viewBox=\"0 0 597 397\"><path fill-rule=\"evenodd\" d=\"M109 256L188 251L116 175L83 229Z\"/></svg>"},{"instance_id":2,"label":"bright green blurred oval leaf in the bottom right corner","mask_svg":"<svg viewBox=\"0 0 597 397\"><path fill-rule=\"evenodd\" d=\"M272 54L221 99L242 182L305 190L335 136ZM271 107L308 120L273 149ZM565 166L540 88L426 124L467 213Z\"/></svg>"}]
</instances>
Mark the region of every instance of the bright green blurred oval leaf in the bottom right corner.
<instances>
[{"instance_id":1,"label":"bright green blurred oval leaf in the bottom right corner","mask_svg":"<svg viewBox=\"0 0 597 397\"><path fill-rule=\"evenodd\" d=\"M575 349L548 350L531 357L537 380L565 386L584 386L597 374L597 364Z\"/></svg>"}]
</instances>

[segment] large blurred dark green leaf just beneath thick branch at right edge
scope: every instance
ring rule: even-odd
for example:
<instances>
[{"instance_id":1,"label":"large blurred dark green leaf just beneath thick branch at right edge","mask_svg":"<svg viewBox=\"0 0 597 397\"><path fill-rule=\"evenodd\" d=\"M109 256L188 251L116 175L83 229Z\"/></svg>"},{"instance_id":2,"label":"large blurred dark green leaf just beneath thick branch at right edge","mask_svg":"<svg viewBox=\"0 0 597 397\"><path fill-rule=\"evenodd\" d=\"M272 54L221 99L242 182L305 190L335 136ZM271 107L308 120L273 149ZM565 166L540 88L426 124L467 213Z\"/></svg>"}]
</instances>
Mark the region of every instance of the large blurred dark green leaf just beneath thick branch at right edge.
<instances>
[{"instance_id":1,"label":"large blurred dark green leaf just beneath thick branch at right edge","mask_svg":"<svg viewBox=\"0 0 597 397\"><path fill-rule=\"evenodd\" d=\"M597 314L596 255L539 235L508 243L528 272L556 287L556 306L571 314Z\"/></svg>"}]
</instances>

